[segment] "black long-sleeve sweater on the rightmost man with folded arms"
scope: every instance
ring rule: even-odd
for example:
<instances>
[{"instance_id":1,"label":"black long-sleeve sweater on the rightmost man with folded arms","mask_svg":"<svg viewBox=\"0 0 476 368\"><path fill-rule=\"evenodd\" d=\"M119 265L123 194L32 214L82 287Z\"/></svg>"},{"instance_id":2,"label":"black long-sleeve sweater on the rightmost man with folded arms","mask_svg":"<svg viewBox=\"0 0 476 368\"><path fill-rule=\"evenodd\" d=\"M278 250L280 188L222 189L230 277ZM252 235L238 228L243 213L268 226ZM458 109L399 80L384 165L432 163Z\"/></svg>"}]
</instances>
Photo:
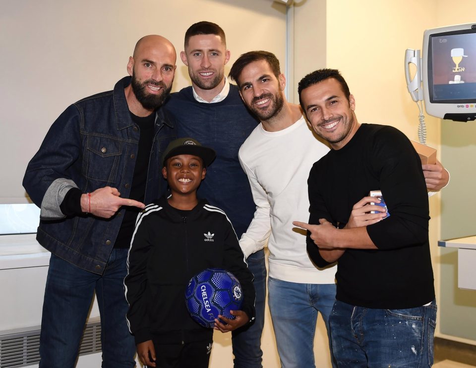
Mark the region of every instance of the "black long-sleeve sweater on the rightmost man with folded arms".
<instances>
[{"instance_id":1,"label":"black long-sleeve sweater on the rightmost man with folded arms","mask_svg":"<svg viewBox=\"0 0 476 368\"><path fill-rule=\"evenodd\" d=\"M366 227L378 249L346 249L338 260L336 299L378 309L422 306L435 297L428 242L428 196L420 159L390 126L362 124L341 149L317 161L308 179L310 224L342 229L352 207L381 190L390 216ZM328 263L307 236L311 260Z\"/></svg>"}]
</instances>

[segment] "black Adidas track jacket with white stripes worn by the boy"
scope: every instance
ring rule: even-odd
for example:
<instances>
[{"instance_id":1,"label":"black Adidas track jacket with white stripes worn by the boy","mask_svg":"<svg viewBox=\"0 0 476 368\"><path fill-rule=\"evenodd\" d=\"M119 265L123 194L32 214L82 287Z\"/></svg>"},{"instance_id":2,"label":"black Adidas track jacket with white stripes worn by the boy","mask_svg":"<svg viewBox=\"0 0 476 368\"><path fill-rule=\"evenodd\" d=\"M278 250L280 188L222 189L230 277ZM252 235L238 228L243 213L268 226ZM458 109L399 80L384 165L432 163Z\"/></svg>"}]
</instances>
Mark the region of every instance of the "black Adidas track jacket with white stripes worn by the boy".
<instances>
[{"instance_id":1,"label":"black Adidas track jacket with white stripes worn by the boy","mask_svg":"<svg viewBox=\"0 0 476 368\"><path fill-rule=\"evenodd\" d=\"M127 266L127 321L136 344L212 337L213 329L194 322L185 307L188 281L206 268L223 268L238 278L243 291L241 310L254 319L253 275L235 230L226 214L204 199L186 216L170 206L166 197L148 205L137 217Z\"/></svg>"}]
</instances>

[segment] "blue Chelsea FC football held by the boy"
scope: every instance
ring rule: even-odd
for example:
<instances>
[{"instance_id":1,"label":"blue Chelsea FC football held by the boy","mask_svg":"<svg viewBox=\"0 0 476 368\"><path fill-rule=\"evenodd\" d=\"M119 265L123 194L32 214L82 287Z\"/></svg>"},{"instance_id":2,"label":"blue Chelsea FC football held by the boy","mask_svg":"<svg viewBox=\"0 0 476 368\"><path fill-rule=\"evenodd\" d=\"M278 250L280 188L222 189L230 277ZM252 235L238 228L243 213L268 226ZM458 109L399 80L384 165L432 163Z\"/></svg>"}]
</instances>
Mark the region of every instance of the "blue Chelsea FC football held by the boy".
<instances>
[{"instance_id":1,"label":"blue Chelsea FC football held by the boy","mask_svg":"<svg viewBox=\"0 0 476 368\"><path fill-rule=\"evenodd\" d=\"M188 313L204 327L213 327L218 315L234 320L230 310L238 311L242 300L238 279L218 268L206 269L193 276L185 290Z\"/></svg>"}]
</instances>

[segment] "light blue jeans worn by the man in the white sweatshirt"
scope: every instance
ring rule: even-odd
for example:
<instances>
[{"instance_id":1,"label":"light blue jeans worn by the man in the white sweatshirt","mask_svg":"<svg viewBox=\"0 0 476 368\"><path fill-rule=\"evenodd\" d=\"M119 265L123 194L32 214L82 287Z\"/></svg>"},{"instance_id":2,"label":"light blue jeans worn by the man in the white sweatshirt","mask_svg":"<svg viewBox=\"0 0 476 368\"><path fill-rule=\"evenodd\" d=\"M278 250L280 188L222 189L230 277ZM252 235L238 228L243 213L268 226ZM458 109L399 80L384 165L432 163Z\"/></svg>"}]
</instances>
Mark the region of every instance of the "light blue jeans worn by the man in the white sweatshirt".
<instances>
[{"instance_id":1,"label":"light blue jeans worn by the man in the white sweatshirt","mask_svg":"<svg viewBox=\"0 0 476 368\"><path fill-rule=\"evenodd\" d=\"M329 333L329 315L336 300L336 284L305 284L268 277L268 305L282 368L314 368L314 335L321 312ZM319 366L319 365L318 365Z\"/></svg>"}]
</instances>

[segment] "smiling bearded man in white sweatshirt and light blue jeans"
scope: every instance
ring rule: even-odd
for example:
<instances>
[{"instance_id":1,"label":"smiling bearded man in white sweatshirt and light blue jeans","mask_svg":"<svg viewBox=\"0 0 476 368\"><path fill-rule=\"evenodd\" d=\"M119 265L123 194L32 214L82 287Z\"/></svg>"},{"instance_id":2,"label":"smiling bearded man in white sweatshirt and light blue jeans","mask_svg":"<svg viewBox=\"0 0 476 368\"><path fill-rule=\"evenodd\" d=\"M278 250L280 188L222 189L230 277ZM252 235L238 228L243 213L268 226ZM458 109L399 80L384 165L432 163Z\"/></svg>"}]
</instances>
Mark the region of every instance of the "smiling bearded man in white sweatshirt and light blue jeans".
<instances>
[{"instance_id":1,"label":"smiling bearded man in white sweatshirt and light blue jeans","mask_svg":"<svg viewBox=\"0 0 476 368\"><path fill-rule=\"evenodd\" d=\"M308 128L299 105L286 100L286 79L274 54L247 52L232 66L230 76L261 121L238 154L256 204L239 244L247 257L262 249L269 236L268 304L281 366L315 367L317 314L328 327L336 266L314 266L306 252L306 233L293 229L292 222L296 216L309 216L309 170L329 148ZM336 367L332 354L331 361Z\"/></svg>"}]
</instances>

